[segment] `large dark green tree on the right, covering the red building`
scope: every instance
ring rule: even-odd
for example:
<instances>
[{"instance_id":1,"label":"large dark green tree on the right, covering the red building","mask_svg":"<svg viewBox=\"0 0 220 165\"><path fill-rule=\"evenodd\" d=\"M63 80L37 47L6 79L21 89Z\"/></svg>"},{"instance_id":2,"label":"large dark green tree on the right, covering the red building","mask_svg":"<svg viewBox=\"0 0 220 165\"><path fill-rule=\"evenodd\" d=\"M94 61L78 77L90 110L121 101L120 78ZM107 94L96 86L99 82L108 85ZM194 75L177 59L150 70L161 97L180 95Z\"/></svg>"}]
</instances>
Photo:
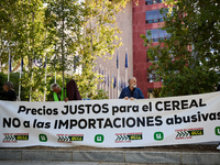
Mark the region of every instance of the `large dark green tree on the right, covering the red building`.
<instances>
[{"instance_id":1,"label":"large dark green tree on the right, covering the red building","mask_svg":"<svg viewBox=\"0 0 220 165\"><path fill-rule=\"evenodd\" d=\"M168 35L158 44L151 33L142 35L150 72L163 78L161 96L205 94L220 81L220 2L218 0L167 0L164 26ZM169 12L167 12L169 10Z\"/></svg>"}]
</instances>

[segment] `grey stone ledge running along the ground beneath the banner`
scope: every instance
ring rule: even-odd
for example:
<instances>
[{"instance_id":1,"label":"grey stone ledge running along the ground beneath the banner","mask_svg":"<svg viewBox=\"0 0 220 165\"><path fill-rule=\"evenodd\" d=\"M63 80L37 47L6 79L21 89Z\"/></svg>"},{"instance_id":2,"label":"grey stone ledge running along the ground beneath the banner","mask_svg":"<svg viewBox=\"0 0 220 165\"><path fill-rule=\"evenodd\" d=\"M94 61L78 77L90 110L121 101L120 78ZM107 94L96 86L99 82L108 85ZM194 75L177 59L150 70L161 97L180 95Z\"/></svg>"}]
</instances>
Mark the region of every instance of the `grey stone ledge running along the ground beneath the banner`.
<instances>
[{"instance_id":1,"label":"grey stone ledge running along the ground beneath the banner","mask_svg":"<svg viewBox=\"0 0 220 165\"><path fill-rule=\"evenodd\" d=\"M220 164L216 144L187 144L128 148L90 146L0 148L0 164L7 161L52 161L90 164ZM18 164L18 163L16 163Z\"/></svg>"}]
</instances>

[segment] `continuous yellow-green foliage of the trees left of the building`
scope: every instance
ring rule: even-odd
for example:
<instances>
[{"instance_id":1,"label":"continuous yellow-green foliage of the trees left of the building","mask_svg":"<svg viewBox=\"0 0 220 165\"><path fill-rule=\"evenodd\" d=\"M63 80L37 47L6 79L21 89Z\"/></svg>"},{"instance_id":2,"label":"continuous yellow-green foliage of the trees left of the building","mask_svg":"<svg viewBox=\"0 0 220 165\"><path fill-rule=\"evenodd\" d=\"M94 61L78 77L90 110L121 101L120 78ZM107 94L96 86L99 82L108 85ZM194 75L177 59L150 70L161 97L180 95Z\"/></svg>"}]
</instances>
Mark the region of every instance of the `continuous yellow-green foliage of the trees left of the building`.
<instances>
[{"instance_id":1,"label":"continuous yellow-green foliage of the trees left of the building","mask_svg":"<svg viewBox=\"0 0 220 165\"><path fill-rule=\"evenodd\" d=\"M63 86L75 78L82 98L106 98L97 91L100 75L95 70L98 56L111 58L120 46L116 14L129 0L2 0L0 3L0 68L8 73L9 52L12 68L21 58L24 67L21 80L24 100L51 100L51 82L55 72ZM44 67L47 58L47 67ZM37 65L36 65L37 64ZM65 74L81 67L80 74ZM13 69L12 72L15 72ZM47 82L45 84L45 74ZM97 97L100 95L102 97ZM29 97L26 97L29 96Z\"/></svg>"}]
</instances>

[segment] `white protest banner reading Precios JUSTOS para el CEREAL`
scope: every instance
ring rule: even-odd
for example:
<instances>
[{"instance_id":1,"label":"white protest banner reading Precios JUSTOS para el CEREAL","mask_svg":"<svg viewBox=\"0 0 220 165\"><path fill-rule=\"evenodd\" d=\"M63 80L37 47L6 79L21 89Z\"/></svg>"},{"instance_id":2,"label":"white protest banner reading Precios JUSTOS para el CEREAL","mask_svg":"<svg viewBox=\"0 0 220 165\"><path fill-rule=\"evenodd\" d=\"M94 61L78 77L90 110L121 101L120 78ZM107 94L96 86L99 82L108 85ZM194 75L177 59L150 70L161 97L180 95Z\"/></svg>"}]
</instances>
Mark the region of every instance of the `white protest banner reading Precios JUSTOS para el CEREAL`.
<instances>
[{"instance_id":1,"label":"white protest banner reading Precios JUSTOS para el CEREAL","mask_svg":"<svg viewBox=\"0 0 220 165\"><path fill-rule=\"evenodd\" d=\"M143 100L0 101L0 147L220 141L220 92Z\"/></svg>"}]
</instances>

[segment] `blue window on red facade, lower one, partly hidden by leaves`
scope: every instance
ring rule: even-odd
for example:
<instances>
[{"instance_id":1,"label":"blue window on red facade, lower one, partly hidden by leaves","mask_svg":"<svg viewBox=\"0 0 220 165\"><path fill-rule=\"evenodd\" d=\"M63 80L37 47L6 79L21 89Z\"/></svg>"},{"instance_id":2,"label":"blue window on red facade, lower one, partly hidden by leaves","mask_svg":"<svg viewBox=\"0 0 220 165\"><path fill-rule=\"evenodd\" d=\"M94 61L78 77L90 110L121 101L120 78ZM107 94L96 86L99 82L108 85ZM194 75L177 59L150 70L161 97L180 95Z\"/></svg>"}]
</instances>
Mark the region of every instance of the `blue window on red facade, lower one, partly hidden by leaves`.
<instances>
[{"instance_id":1,"label":"blue window on red facade, lower one, partly hidden by leaves","mask_svg":"<svg viewBox=\"0 0 220 165\"><path fill-rule=\"evenodd\" d=\"M169 37L169 35L164 30L154 29L154 30L148 30L148 31L151 31L152 35L151 37L146 35L146 37L153 40L153 42L158 42L160 38Z\"/></svg>"}]
</instances>

